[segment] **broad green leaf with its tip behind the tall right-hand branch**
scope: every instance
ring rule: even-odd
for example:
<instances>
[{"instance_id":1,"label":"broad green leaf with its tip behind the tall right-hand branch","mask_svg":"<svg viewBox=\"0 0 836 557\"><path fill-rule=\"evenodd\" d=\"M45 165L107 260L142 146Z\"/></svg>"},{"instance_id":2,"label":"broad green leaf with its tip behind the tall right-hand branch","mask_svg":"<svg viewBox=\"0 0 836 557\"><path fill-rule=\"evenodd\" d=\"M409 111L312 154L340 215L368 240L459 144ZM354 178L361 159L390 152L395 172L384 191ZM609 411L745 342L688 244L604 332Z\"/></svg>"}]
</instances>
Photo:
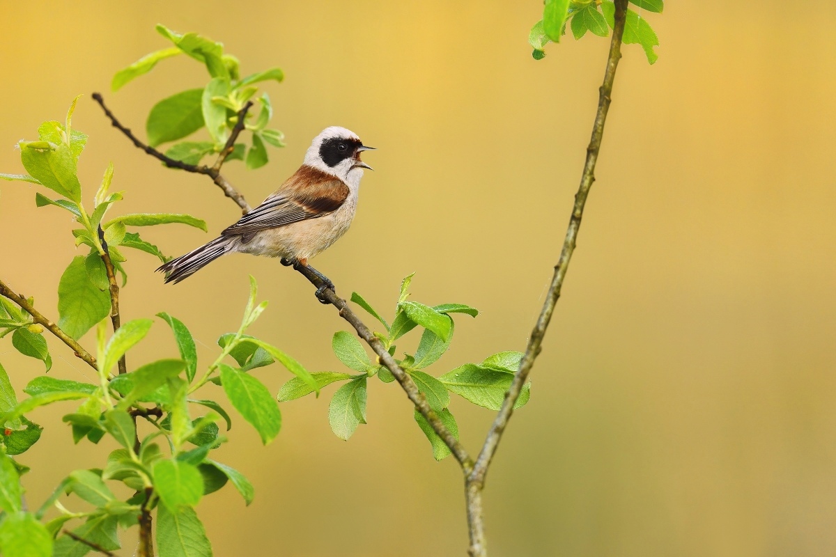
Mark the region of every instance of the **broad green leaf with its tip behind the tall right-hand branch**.
<instances>
[{"instance_id":1,"label":"broad green leaf with its tip behind the tall right-hand branch","mask_svg":"<svg viewBox=\"0 0 836 557\"><path fill-rule=\"evenodd\" d=\"M438 378L447 389L462 398L490 410L499 410L505 399L505 392L511 387L512 373L500 372L487 367L480 367L473 363L466 363L456 367ZM528 403L531 383L523 387L514 408L520 408Z\"/></svg>"}]
</instances>

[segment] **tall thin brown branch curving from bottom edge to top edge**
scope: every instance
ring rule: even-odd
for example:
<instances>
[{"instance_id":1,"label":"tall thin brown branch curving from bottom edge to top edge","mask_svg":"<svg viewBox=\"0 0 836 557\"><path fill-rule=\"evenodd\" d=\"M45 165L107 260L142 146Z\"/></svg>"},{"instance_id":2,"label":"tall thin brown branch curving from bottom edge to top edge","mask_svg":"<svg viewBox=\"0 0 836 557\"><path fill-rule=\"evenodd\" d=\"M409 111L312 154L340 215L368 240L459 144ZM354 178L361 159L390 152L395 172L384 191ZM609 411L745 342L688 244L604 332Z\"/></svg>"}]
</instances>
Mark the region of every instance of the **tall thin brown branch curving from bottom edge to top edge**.
<instances>
[{"instance_id":1,"label":"tall thin brown branch curving from bottom edge to top edge","mask_svg":"<svg viewBox=\"0 0 836 557\"><path fill-rule=\"evenodd\" d=\"M560 297L560 289L563 286L563 280L566 278L566 271L568 271L569 261L572 259L572 253L578 239L578 231L580 229L581 219L584 216L584 205L586 205L589 190L595 181L595 164L598 162L598 154L601 149L601 140L604 137L604 123L607 119L607 112L611 102L611 95L613 92L613 84L615 80L615 70L618 68L619 59L621 58L621 39L624 34L624 18L627 10L627 0L615 0L615 25L613 28L612 42L609 44L609 55L607 57L607 66L604 71L604 83L599 89L598 111L595 114L595 121L592 129L592 138L589 140L589 146L586 149L586 162L584 163L584 172L581 175L580 186L578 193L575 194L575 202L572 209L572 215L569 218L568 229L563 240L563 249L560 252L557 265L554 266L554 275L552 277L551 286L548 288L546 301L543 303L543 309L540 311L537 323L531 333L531 338L528 341L525 355L520 361L517 372L514 374L511 387L505 394L505 400L502 402L502 407L494 420L490 431L485 438L485 444L477 457L477 462L474 465L472 472L468 474L466 479L466 497L467 497L467 519L470 525L471 547L469 553L472 557L483 557L487 555L485 547L485 532L482 521L482 488L485 484L485 476L487 468L491 464L493 455L497 452L499 441L502 438L502 433L505 431L508 420L513 413L514 404L520 393L523 391L523 385L528 378L528 373L534 365L535 358L541 350L543 337L545 337L548 323L552 319L554 306L557 304Z\"/></svg>"}]
</instances>

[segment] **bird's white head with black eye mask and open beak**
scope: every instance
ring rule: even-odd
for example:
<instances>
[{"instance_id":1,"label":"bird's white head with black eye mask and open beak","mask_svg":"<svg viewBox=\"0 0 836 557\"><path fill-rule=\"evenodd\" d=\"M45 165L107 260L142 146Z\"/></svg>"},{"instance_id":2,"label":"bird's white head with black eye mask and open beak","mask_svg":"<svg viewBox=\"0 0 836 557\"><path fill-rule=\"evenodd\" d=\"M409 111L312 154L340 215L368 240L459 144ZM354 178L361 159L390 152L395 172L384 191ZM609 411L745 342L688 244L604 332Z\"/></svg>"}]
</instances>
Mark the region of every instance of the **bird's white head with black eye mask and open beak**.
<instances>
[{"instance_id":1,"label":"bird's white head with black eye mask and open beak","mask_svg":"<svg viewBox=\"0 0 836 557\"><path fill-rule=\"evenodd\" d=\"M337 176L349 185L359 184L363 169L372 170L360 160L360 153L374 147L366 147L350 129L331 126L314 138L305 153L305 165L313 166Z\"/></svg>"}]
</instances>

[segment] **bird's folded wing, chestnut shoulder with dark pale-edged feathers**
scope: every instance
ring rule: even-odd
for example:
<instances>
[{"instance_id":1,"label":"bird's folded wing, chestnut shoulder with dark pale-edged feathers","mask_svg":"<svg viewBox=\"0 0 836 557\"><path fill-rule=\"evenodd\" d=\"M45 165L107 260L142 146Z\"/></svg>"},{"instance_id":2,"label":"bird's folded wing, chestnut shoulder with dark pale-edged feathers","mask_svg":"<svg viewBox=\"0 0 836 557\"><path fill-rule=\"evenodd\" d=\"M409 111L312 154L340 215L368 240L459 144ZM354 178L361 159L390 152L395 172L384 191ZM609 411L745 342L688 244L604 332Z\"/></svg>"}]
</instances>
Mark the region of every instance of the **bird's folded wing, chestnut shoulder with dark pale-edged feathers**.
<instances>
[{"instance_id":1,"label":"bird's folded wing, chestnut shoulder with dark pale-edged feathers","mask_svg":"<svg viewBox=\"0 0 836 557\"><path fill-rule=\"evenodd\" d=\"M224 230L222 235L250 235L328 215L338 210L348 196L349 186L343 180L303 165L282 187Z\"/></svg>"}]
</instances>

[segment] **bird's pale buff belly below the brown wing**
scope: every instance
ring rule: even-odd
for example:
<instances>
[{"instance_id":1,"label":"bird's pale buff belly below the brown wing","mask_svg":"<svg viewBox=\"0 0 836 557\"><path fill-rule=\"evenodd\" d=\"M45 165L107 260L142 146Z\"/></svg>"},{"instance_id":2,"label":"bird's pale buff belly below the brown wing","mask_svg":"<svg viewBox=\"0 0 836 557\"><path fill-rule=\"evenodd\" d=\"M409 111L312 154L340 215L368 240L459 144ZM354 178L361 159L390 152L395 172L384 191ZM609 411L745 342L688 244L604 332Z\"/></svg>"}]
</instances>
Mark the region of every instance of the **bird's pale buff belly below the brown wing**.
<instances>
[{"instance_id":1,"label":"bird's pale buff belly below the brown wing","mask_svg":"<svg viewBox=\"0 0 836 557\"><path fill-rule=\"evenodd\" d=\"M337 210L317 219L261 230L242 246L241 251L257 256L310 259L326 250L349 230L351 216Z\"/></svg>"}]
</instances>

